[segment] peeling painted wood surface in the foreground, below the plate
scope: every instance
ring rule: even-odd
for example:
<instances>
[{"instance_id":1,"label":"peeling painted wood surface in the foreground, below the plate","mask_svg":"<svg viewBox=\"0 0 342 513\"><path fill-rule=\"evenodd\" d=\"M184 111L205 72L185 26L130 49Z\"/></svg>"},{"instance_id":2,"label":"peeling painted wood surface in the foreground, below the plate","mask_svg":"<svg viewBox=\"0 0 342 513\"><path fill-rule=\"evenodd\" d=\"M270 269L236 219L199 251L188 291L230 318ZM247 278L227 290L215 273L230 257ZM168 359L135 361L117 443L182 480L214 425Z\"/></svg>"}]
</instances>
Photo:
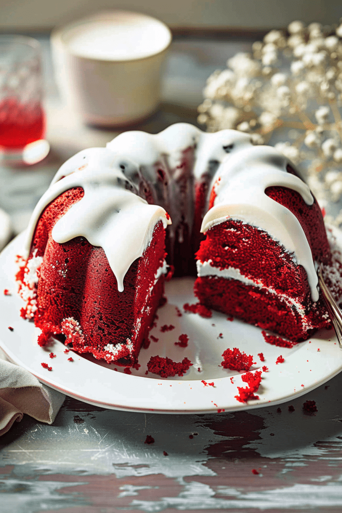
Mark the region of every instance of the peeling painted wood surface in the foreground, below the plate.
<instances>
[{"instance_id":1,"label":"peeling painted wood surface in the foreground, below the plate","mask_svg":"<svg viewBox=\"0 0 342 513\"><path fill-rule=\"evenodd\" d=\"M339 375L281 412L220 415L67 398L52 426L25 417L0 439L0 511L341 511L341 386Z\"/></svg>"}]
</instances>

